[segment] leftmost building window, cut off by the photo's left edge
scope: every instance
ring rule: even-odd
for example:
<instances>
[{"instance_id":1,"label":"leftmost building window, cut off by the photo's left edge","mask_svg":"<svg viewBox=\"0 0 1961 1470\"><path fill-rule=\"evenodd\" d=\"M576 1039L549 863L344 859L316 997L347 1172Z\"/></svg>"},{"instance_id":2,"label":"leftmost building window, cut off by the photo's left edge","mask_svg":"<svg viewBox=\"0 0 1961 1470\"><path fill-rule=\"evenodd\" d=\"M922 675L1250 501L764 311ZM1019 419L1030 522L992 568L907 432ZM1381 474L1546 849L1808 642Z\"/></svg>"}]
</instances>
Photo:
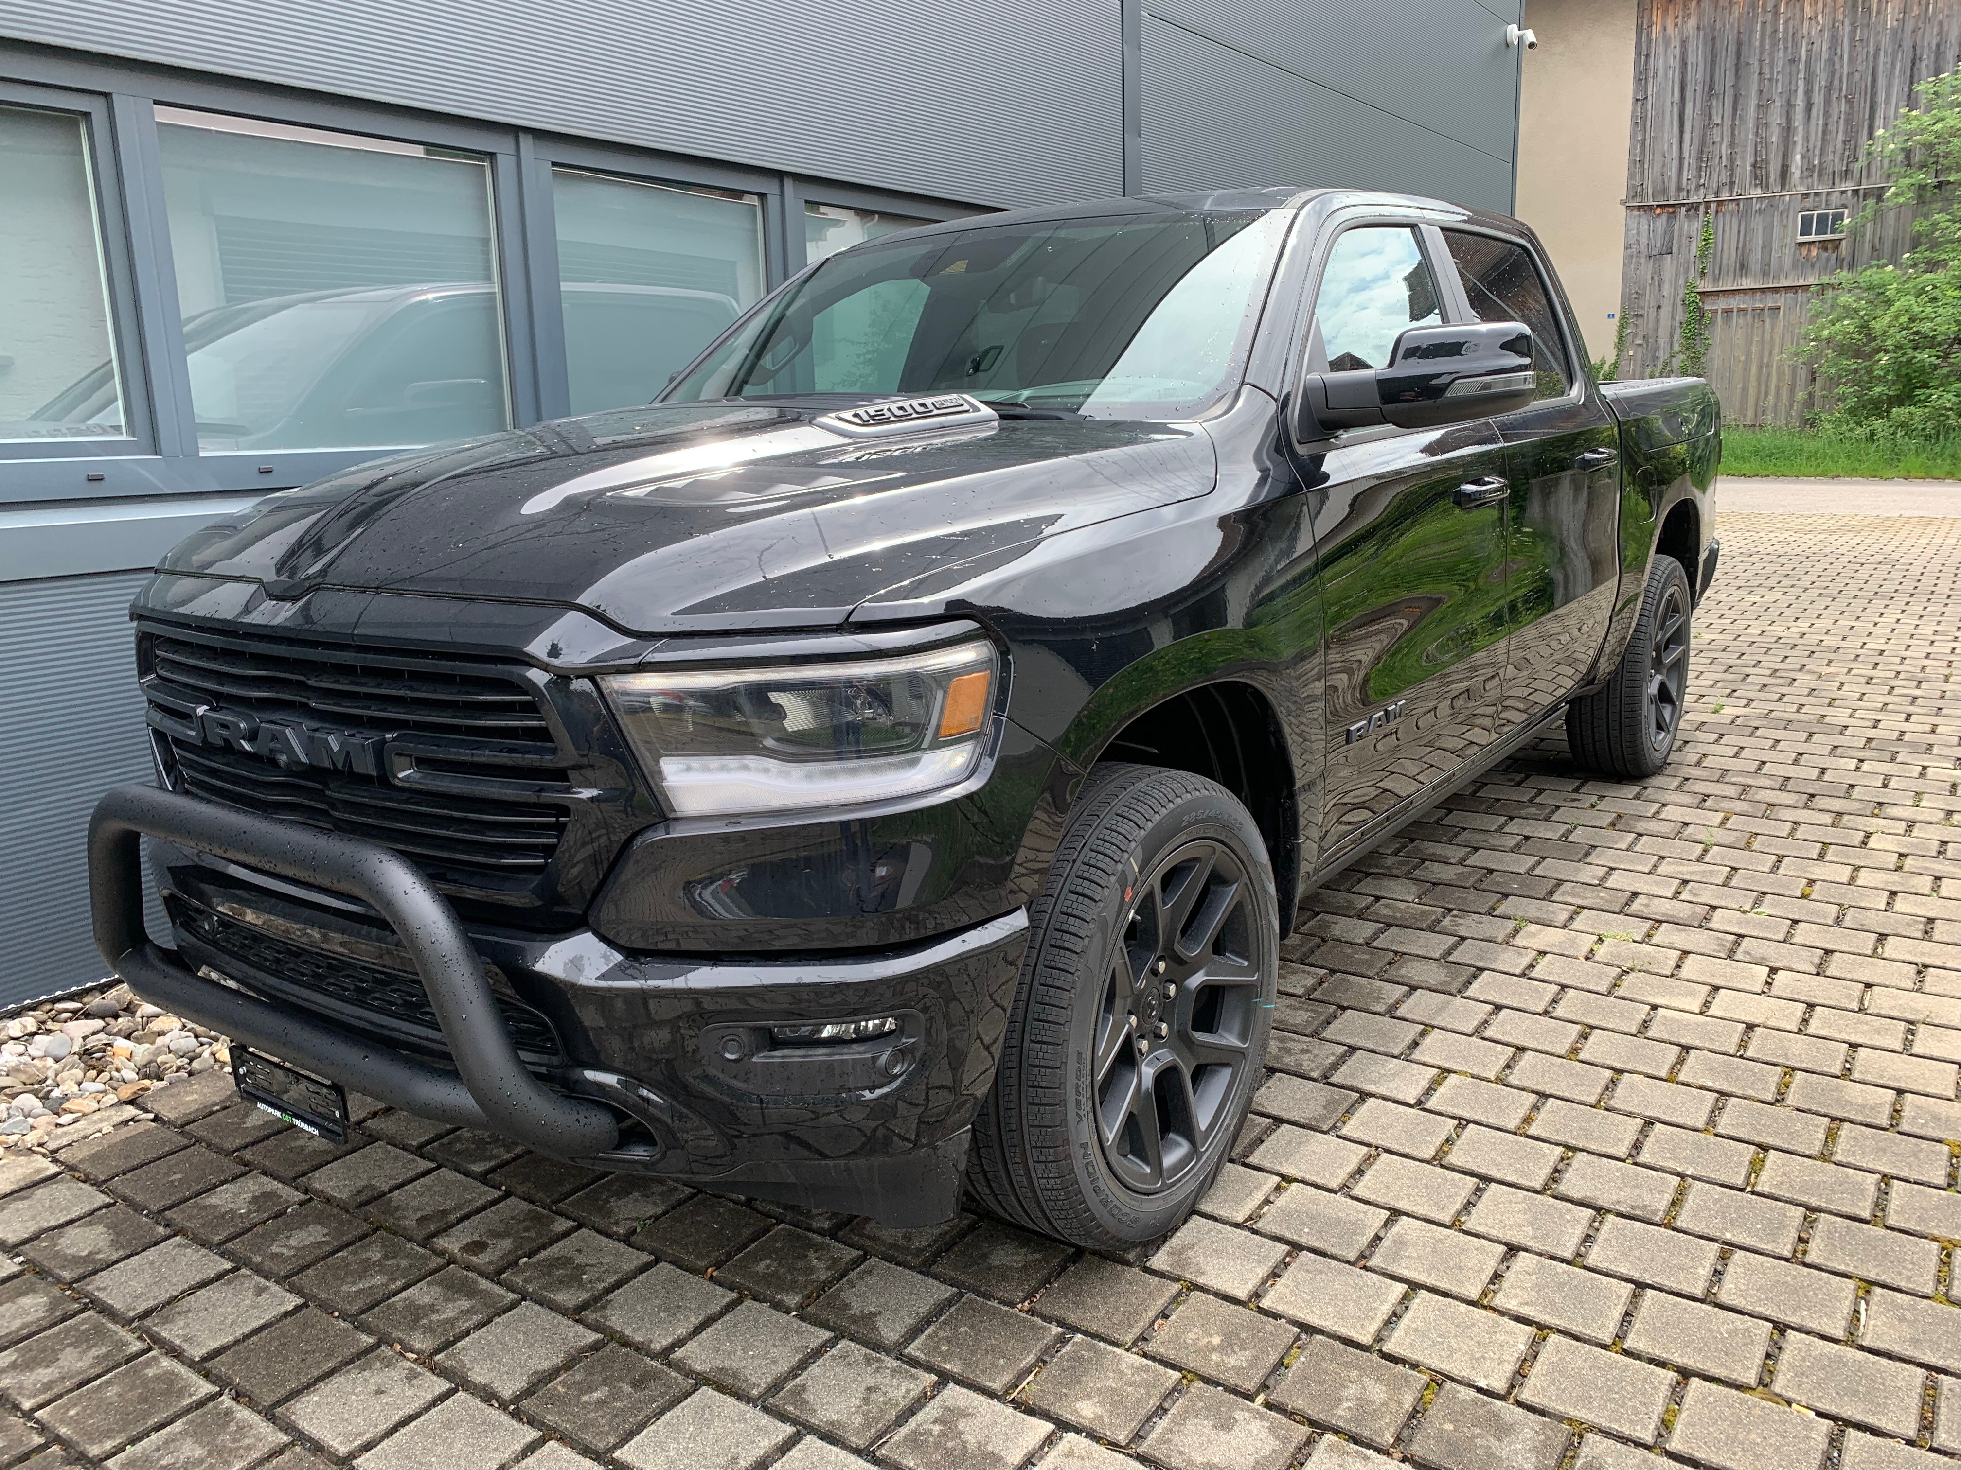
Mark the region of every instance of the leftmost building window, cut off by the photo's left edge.
<instances>
[{"instance_id":1,"label":"leftmost building window, cut off by the photo's left edge","mask_svg":"<svg viewBox=\"0 0 1961 1470\"><path fill-rule=\"evenodd\" d=\"M0 108L0 441L124 437L86 118Z\"/></svg>"}]
</instances>

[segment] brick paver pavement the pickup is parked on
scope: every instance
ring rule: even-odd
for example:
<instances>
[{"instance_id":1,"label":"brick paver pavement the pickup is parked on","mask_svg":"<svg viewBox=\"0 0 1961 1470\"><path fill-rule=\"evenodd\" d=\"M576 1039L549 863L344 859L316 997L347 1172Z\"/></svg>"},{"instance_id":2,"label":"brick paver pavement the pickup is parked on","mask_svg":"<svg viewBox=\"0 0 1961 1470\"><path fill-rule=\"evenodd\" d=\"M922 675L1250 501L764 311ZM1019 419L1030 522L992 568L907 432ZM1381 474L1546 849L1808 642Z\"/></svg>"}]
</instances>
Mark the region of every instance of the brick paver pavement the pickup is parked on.
<instances>
[{"instance_id":1,"label":"brick paver pavement the pickup is parked on","mask_svg":"<svg viewBox=\"0 0 1961 1470\"><path fill-rule=\"evenodd\" d=\"M1316 898L1157 1252L206 1076L0 1158L0 1466L1953 1464L1961 519L1724 547L1667 774L1547 739Z\"/></svg>"}]
</instances>

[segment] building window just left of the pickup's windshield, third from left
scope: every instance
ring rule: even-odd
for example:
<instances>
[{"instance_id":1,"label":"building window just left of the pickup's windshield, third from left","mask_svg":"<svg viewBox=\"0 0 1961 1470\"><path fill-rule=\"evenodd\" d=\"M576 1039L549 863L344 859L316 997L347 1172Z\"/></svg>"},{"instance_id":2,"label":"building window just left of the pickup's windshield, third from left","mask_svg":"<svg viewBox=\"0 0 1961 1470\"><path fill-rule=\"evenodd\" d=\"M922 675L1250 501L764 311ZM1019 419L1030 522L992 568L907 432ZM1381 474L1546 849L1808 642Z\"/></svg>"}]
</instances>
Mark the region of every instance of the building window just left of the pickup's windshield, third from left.
<instances>
[{"instance_id":1,"label":"building window just left of the pickup's windshield, third from left","mask_svg":"<svg viewBox=\"0 0 1961 1470\"><path fill-rule=\"evenodd\" d=\"M551 171L573 414L645 404L763 296L763 200Z\"/></svg>"}]
</instances>

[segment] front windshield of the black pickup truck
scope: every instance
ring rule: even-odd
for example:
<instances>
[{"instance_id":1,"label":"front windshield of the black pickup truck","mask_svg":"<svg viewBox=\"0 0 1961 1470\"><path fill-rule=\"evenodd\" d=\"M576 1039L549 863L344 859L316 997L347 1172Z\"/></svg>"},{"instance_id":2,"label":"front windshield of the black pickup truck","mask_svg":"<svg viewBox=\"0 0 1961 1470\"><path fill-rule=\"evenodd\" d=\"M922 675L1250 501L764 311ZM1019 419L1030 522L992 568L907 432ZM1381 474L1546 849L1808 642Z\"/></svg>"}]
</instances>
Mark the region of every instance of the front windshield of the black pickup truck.
<instances>
[{"instance_id":1,"label":"front windshield of the black pickup truck","mask_svg":"<svg viewBox=\"0 0 1961 1470\"><path fill-rule=\"evenodd\" d=\"M663 398L967 392L1171 419L1237 384L1284 212L980 225L824 261Z\"/></svg>"}]
</instances>

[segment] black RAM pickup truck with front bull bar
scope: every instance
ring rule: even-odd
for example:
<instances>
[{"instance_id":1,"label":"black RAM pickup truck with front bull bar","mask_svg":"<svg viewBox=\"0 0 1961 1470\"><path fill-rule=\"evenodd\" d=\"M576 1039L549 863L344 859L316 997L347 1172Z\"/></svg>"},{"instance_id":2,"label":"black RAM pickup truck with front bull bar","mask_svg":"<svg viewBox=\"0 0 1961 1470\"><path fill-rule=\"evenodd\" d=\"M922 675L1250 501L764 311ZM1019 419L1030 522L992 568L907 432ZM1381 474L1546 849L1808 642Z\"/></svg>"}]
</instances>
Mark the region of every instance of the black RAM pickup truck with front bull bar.
<instances>
[{"instance_id":1,"label":"black RAM pickup truck with front bull bar","mask_svg":"<svg viewBox=\"0 0 1961 1470\"><path fill-rule=\"evenodd\" d=\"M1718 453L1700 380L1592 380L1514 220L1273 190L890 235L647 408L173 551L96 937L329 1137L353 1088L1149 1241L1261 1084L1304 892L1553 721L1594 772L1669 759Z\"/></svg>"}]
</instances>

